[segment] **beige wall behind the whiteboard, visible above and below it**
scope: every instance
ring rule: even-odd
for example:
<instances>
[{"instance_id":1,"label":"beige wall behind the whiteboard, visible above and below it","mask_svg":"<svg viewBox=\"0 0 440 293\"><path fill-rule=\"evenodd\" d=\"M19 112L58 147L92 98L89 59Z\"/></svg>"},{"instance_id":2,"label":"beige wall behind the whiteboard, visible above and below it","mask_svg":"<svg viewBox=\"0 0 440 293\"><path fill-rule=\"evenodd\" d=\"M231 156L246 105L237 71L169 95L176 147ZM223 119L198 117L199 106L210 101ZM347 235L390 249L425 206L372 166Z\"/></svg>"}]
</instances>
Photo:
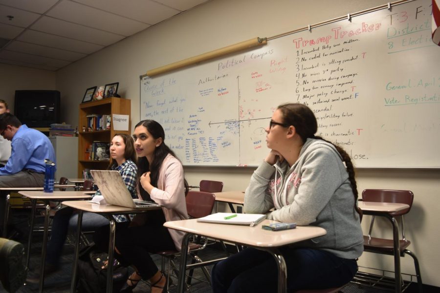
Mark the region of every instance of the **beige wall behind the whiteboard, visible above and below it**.
<instances>
[{"instance_id":1,"label":"beige wall behind the whiteboard, visible above and below it","mask_svg":"<svg viewBox=\"0 0 440 293\"><path fill-rule=\"evenodd\" d=\"M139 121L139 76L149 69L385 3L385 0L212 0L59 70L56 89L62 94L62 115L66 123L76 126L76 109L85 90L94 85L119 82L118 93L132 100L133 127ZM251 168L187 167L185 175L191 185L197 185L201 179L214 179L224 182L224 190L243 190L252 171ZM410 249L418 255L423 282L440 287L437 277L440 263L437 252L440 247L439 178L440 170L357 170L360 191L364 188L413 190L416 199L406 218L406 236L412 241ZM366 217L363 225L366 232L368 220ZM359 263L393 270L392 261L391 256L365 253ZM402 259L403 272L414 273L413 268L410 257Z\"/></svg>"}]
</instances>

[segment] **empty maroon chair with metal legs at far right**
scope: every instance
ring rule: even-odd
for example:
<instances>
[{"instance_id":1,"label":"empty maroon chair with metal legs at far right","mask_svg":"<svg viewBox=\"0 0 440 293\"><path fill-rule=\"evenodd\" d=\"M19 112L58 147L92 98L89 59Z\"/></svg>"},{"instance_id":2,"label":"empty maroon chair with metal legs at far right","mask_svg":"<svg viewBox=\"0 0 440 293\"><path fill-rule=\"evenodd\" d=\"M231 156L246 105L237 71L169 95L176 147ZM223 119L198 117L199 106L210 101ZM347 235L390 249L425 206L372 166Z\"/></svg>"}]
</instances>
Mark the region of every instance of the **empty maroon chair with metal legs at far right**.
<instances>
[{"instance_id":1,"label":"empty maroon chair with metal legs at far right","mask_svg":"<svg viewBox=\"0 0 440 293\"><path fill-rule=\"evenodd\" d=\"M370 224L370 230L368 232L368 236L364 235L364 251L368 252L374 252L374 253L381 253L381 254L388 254L388 255L394 255L395 256L395 274L396 274L396 282L397 280L401 280L400 277L400 261L398 257L403 257L405 254L410 255L414 260L414 266L416 270L416 276L417 276L417 282L418 282L418 290L419 292L422 292L422 280L420 275L420 268L418 265L418 259L416 255L409 251L407 247L411 244L409 240L405 238L405 231L404 231L404 223L403 223L403 215L408 213L411 210L411 207L413 205L413 199L414 194L413 192L409 190L388 190L388 189L365 189L362 191L362 200L365 202L381 202L381 203L400 203L400 204L407 204L409 207L407 209L399 210L396 212L386 212L382 214L374 214L374 212L367 212L364 211L364 214L371 214L373 215L371 224ZM374 226L374 217L377 216L383 216L387 218L394 230L394 237L396 238L396 241L394 239L384 239L384 238L376 238L372 237L372 231ZM400 239L398 235L398 229L399 225L396 221L396 217L401 218L401 230L402 230L402 239ZM398 241L398 244L397 244ZM399 256L395 253L395 245L399 249ZM398 285L396 284L396 291L398 290ZM400 291L400 290L398 290Z\"/></svg>"}]
</instances>

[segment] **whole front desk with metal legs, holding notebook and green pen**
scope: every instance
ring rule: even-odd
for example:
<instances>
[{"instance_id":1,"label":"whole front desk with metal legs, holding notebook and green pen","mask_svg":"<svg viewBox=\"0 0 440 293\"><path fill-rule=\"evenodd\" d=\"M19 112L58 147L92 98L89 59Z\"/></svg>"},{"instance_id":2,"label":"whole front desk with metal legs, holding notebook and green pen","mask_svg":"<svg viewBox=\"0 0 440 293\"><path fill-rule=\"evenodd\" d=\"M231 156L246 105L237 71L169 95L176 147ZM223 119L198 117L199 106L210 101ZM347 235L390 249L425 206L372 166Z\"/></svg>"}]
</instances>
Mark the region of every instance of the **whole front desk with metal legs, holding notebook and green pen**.
<instances>
[{"instance_id":1,"label":"whole front desk with metal legs, holding notebook and green pen","mask_svg":"<svg viewBox=\"0 0 440 293\"><path fill-rule=\"evenodd\" d=\"M192 235L204 235L223 241L239 243L272 254L278 265L278 292L286 292L286 263L278 247L325 235L326 230L320 227L301 226L296 229L283 231L268 231L261 228L264 224L277 223L264 220L255 227L240 225L225 225L197 222L197 219L166 222L165 227L186 232L182 240L181 251L188 250L188 242ZM177 292L183 293L186 269L186 253L181 254ZM200 263L202 264L202 263Z\"/></svg>"}]
</instances>

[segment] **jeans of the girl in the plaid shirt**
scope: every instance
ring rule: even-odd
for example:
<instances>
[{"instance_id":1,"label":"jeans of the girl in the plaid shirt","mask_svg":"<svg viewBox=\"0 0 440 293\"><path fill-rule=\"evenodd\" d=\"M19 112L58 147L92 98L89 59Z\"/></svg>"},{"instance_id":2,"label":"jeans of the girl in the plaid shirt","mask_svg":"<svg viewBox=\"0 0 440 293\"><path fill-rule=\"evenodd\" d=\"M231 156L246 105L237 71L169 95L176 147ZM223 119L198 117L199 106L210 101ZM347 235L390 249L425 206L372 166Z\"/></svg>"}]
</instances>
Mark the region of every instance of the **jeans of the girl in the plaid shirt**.
<instances>
[{"instance_id":1,"label":"jeans of the girl in the plaid shirt","mask_svg":"<svg viewBox=\"0 0 440 293\"><path fill-rule=\"evenodd\" d=\"M109 225L109 220L94 212L83 212L83 221L81 222L82 231L94 231L97 228ZM47 243L46 262L53 266L58 266L64 243L66 242L69 230L76 232L78 224L78 213L76 209L66 207L57 210L52 221L52 232L50 240Z\"/></svg>"}]
</instances>

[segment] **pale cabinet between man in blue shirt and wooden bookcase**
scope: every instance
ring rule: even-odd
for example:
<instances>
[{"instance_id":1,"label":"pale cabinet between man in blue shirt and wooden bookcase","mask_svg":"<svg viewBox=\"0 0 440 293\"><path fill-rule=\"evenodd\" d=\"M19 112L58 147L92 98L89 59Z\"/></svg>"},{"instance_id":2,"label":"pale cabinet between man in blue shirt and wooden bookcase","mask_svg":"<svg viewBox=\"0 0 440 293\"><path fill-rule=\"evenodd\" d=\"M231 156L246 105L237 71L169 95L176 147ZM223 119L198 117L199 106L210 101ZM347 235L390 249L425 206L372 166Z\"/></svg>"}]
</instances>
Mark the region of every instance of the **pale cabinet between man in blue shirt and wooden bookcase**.
<instances>
[{"instance_id":1,"label":"pale cabinet between man in blue shirt and wooden bookcase","mask_svg":"<svg viewBox=\"0 0 440 293\"><path fill-rule=\"evenodd\" d=\"M49 137L55 149L57 171L55 181L61 177L77 178L78 175L78 137Z\"/></svg>"}]
</instances>

